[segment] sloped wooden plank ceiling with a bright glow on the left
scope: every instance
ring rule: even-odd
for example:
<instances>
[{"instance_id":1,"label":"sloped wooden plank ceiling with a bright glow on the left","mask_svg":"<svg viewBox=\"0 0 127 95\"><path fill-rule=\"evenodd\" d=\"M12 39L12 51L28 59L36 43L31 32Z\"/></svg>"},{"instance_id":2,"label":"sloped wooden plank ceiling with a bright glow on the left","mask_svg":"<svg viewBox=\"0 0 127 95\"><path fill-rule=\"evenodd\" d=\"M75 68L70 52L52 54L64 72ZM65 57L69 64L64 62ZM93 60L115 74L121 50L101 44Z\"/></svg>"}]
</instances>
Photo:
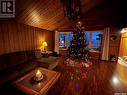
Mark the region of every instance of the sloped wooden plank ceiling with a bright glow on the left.
<instances>
[{"instance_id":1,"label":"sloped wooden plank ceiling with a bright glow on the left","mask_svg":"<svg viewBox=\"0 0 127 95\"><path fill-rule=\"evenodd\" d=\"M113 6L114 7L114 6ZM119 17L112 3L105 0L81 0L81 21L86 29L115 25ZM73 30L77 21L64 15L60 0L16 0L16 21L50 30Z\"/></svg>"}]
</instances>

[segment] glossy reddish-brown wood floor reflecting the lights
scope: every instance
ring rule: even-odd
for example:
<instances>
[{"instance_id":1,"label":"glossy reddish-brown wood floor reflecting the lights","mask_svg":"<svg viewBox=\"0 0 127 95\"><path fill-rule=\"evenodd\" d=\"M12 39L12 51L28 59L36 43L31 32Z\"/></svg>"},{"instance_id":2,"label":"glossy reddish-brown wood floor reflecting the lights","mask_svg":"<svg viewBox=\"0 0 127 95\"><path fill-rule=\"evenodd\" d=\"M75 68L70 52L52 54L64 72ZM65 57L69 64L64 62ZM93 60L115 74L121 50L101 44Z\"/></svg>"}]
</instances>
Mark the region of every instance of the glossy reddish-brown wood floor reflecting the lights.
<instances>
[{"instance_id":1,"label":"glossy reddish-brown wood floor reflecting the lights","mask_svg":"<svg viewBox=\"0 0 127 95\"><path fill-rule=\"evenodd\" d=\"M127 67L92 60L89 68L68 67L61 61L58 83L48 95L127 95Z\"/></svg>"}]
</instances>

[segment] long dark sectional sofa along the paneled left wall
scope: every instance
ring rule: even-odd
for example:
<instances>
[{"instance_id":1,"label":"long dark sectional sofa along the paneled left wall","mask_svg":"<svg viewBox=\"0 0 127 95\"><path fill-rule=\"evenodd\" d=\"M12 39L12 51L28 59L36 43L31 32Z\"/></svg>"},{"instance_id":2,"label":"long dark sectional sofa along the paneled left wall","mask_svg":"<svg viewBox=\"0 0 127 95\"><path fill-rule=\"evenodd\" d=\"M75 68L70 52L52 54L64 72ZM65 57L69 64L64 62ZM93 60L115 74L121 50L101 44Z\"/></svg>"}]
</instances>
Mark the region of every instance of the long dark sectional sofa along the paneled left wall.
<instances>
[{"instance_id":1,"label":"long dark sectional sofa along the paneled left wall","mask_svg":"<svg viewBox=\"0 0 127 95\"><path fill-rule=\"evenodd\" d=\"M53 69L57 64L57 57L44 58L40 50L19 51L0 55L0 87L38 66Z\"/></svg>"}]
</instances>

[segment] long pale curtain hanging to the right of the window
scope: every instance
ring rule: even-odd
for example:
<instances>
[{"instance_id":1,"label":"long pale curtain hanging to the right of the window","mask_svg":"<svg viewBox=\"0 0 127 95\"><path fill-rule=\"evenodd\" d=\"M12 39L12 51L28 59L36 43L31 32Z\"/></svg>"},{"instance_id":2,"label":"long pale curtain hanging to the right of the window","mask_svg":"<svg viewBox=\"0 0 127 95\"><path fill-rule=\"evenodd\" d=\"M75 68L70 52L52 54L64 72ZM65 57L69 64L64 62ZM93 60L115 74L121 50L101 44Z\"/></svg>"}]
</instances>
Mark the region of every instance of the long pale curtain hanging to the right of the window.
<instances>
[{"instance_id":1,"label":"long pale curtain hanging to the right of the window","mask_svg":"<svg viewBox=\"0 0 127 95\"><path fill-rule=\"evenodd\" d=\"M107 27L104 29L101 60L109 60L109 39L110 39L110 28Z\"/></svg>"}]
</instances>

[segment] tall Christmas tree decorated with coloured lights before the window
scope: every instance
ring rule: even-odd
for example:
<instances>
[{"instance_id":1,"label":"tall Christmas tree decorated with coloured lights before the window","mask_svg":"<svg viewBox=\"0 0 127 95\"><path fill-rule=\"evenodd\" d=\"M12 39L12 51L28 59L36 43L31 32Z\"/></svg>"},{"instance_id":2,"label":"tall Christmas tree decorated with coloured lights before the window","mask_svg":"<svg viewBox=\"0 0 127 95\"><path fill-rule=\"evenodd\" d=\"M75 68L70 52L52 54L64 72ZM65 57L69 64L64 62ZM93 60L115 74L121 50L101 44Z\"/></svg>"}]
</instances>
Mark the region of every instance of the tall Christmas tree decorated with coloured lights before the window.
<instances>
[{"instance_id":1,"label":"tall Christmas tree decorated with coloured lights before the window","mask_svg":"<svg viewBox=\"0 0 127 95\"><path fill-rule=\"evenodd\" d=\"M70 58L81 59L87 63L89 56L88 41L85 35L85 27L82 27L81 22L78 22L74 29L72 41L68 51Z\"/></svg>"}]
</instances>

